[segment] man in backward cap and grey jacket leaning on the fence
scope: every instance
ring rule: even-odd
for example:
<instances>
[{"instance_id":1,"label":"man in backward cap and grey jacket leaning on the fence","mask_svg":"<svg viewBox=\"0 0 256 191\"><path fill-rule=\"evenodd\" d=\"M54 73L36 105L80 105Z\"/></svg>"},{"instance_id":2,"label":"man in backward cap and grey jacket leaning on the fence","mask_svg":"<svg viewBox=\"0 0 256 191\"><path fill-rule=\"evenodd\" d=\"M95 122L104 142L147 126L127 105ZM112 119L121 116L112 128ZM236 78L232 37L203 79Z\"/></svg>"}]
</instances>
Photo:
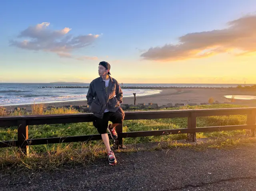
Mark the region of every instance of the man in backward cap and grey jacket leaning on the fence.
<instances>
[{"instance_id":1,"label":"man in backward cap and grey jacket leaning on the fence","mask_svg":"<svg viewBox=\"0 0 256 191\"><path fill-rule=\"evenodd\" d=\"M116 126L124 120L124 111L120 107L123 93L118 82L110 77L110 64L102 61L98 67L100 77L94 79L86 95L87 103L96 117L93 125L101 134L102 140L108 151L110 165L116 164L114 152L110 149L107 130L113 139L117 139ZM112 124L108 125L108 121Z\"/></svg>"}]
</instances>

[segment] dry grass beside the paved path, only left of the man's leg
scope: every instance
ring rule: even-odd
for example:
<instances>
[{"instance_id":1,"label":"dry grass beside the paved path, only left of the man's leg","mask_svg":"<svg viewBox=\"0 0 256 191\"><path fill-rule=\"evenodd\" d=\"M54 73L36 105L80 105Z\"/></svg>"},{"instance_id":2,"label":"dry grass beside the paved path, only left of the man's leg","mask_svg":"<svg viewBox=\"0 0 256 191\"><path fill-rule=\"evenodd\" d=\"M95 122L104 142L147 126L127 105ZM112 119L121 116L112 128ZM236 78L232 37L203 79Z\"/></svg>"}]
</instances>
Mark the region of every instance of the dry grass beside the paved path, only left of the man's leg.
<instances>
[{"instance_id":1,"label":"dry grass beside the paved path, only left of the man's leg","mask_svg":"<svg viewBox=\"0 0 256 191\"><path fill-rule=\"evenodd\" d=\"M86 165L106 155L104 145L100 142L94 145L81 143L77 148L74 148L73 143L55 145L51 150L45 146L46 152L43 153L30 148L29 156L21 154L18 148L6 148L0 155L0 166L7 171L54 170L64 165Z\"/></svg>"}]
</instances>

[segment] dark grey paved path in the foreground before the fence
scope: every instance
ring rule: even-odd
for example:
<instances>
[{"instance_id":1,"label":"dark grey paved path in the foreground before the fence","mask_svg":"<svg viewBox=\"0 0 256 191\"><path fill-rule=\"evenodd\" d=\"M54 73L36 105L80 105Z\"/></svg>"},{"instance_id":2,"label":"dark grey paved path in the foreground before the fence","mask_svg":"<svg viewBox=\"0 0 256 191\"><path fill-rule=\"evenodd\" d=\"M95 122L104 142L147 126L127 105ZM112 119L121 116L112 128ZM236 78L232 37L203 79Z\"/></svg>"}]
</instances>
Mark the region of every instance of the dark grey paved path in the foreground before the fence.
<instances>
[{"instance_id":1,"label":"dark grey paved path in the foreground before the fence","mask_svg":"<svg viewBox=\"0 0 256 191\"><path fill-rule=\"evenodd\" d=\"M116 154L117 166L89 167L29 177L2 176L1 191L255 191L256 144L204 152L179 149Z\"/></svg>"}]
</instances>

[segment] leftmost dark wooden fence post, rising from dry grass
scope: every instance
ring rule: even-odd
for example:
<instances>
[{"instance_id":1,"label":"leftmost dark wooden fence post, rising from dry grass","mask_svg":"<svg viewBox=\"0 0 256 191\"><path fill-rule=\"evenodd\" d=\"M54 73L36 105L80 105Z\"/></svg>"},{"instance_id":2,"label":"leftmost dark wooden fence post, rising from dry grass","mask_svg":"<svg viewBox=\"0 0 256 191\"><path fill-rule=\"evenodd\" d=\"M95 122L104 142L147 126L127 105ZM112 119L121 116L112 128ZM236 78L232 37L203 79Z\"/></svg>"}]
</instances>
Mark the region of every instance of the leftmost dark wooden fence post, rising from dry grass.
<instances>
[{"instance_id":1,"label":"leftmost dark wooden fence post, rising from dry grass","mask_svg":"<svg viewBox=\"0 0 256 191\"><path fill-rule=\"evenodd\" d=\"M28 126L26 120L18 120L18 147L25 155L29 154L28 140Z\"/></svg>"}]
</instances>

